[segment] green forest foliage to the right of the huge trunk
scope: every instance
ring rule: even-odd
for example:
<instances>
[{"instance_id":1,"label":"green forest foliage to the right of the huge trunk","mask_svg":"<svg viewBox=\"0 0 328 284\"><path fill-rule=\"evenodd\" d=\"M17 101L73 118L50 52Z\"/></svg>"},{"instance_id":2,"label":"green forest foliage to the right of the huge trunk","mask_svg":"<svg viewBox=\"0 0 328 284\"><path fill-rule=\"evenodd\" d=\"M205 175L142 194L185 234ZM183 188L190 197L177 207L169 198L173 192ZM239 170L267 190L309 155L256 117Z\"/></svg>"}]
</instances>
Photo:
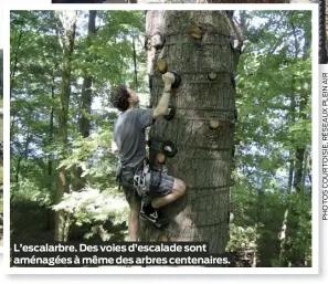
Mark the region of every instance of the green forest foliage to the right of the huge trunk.
<instances>
[{"instance_id":1,"label":"green forest foliage to the right of the huge trunk","mask_svg":"<svg viewBox=\"0 0 328 284\"><path fill-rule=\"evenodd\" d=\"M239 65L240 143L228 249L252 249L256 266L309 266L310 13L242 11L239 17L248 44ZM304 190L290 193L299 175L297 149L305 152L298 165ZM279 239L286 210L287 231Z\"/></svg>"}]
</instances>

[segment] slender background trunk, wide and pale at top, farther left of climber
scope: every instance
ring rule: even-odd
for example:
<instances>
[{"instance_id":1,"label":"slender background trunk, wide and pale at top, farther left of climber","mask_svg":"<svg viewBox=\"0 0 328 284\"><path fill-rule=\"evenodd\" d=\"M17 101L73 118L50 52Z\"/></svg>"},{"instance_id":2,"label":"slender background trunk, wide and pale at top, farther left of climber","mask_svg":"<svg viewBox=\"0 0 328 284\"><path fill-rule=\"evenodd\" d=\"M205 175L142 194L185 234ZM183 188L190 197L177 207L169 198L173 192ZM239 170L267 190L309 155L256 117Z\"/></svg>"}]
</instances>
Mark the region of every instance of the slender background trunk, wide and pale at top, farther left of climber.
<instances>
[{"instance_id":1,"label":"slender background trunk, wide and pale at top, farther left of climber","mask_svg":"<svg viewBox=\"0 0 328 284\"><path fill-rule=\"evenodd\" d=\"M63 70L62 70L62 91L60 94L59 109L59 138L61 141L61 159L65 158L67 149L67 120L68 120L68 102L71 95L71 57L73 54L75 30L76 30L76 11L55 11L57 18L57 35L63 51ZM59 168L56 182L55 202L62 200L64 192L68 191L66 172L64 167ZM62 211L55 213L55 241L66 241L68 235L68 215Z\"/></svg>"}]
</instances>

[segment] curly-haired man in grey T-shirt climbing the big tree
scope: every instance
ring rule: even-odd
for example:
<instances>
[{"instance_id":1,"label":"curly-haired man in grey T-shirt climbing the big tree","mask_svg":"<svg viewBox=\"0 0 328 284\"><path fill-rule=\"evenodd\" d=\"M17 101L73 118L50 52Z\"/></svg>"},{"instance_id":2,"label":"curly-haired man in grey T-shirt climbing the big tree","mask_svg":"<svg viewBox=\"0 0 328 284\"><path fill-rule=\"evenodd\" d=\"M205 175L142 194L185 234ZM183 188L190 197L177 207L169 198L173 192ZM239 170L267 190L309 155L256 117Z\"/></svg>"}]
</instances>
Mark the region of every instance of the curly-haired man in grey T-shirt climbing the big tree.
<instances>
[{"instance_id":1,"label":"curly-haired man in grey T-shirt climbing the big tree","mask_svg":"<svg viewBox=\"0 0 328 284\"><path fill-rule=\"evenodd\" d=\"M167 72L162 75L162 80L165 82L163 94L154 109L137 108L138 95L126 86L119 86L110 96L114 107L123 112L115 123L112 150L119 158L120 167L116 176L130 207L128 220L130 241L138 240L139 215L141 219L154 223L157 228L162 228L168 221L158 208L173 202L186 191L182 180L168 176L162 171L149 169L145 162L145 128L151 126L154 119L167 114L174 75ZM147 173L144 175L145 172ZM145 178L147 175L151 175L151 179ZM140 192L140 188L134 183L136 179L142 180L141 183L145 187L141 187L141 190L144 192ZM155 187L154 185L159 186ZM142 198L144 193L147 193L147 199Z\"/></svg>"}]
</instances>

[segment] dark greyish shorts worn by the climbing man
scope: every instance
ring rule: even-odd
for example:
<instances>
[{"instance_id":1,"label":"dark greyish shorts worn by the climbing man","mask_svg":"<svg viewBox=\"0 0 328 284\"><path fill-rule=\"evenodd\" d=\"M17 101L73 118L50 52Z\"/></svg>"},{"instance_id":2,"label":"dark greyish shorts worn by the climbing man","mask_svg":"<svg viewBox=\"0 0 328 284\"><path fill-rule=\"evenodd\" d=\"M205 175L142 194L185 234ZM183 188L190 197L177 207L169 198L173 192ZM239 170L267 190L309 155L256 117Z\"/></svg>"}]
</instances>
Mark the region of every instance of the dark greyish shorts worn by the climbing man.
<instances>
[{"instance_id":1,"label":"dark greyish shorts worn by the climbing man","mask_svg":"<svg viewBox=\"0 0 328 284\"><path fill-rule=\"evenodd\" d=\"M165 197L172 193L173 185L174 185L173 177L162 171L150 170L150 169L147 175L149 175L149 178L146 179L146 188L150 199L154 199L157 197ZM152 180L150 178L151 175L152 175ZM151 181L151 185L150 185L150 181ZM141 198L139 197L135 188L123 187L123 190L128 203L134 203L141 200Z\"/></svg>"}]
</instances>

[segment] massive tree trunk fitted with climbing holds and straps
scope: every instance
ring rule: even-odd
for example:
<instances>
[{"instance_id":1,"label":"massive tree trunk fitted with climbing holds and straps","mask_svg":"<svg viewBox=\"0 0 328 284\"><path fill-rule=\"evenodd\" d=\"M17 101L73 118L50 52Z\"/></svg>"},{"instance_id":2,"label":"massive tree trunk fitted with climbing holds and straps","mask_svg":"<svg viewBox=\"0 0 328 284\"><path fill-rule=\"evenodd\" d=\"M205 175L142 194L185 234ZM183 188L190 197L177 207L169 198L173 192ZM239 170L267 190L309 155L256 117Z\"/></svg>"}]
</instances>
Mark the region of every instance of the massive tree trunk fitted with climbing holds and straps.
<instances>
[{"instance_id":1,"label":"massive tree trunk fitted with climbing holds and straps","mask_svg":"<svg viewBox=\"0 0 328 284\"><path fill-rule=\"evenodd\" d=\"M230 45L232 20L224 11L148 11L146 33L152 107L163 91L157 60L166 60L168 71L181 75L171 95L176 116L157 119L150 141L176 144L178 154L166 166L169 175L186 182L187 192L163 209L169 227L161 232L144 223L141 240L207 241L212 253L224 252L235 128L232 77L240 55ZM157 33L165 36L162 48L150 46ZM209 80L209 73L216 77ZM210 129L210 122L219 122L219 127Z\"/></svg>"}]
</instances>

